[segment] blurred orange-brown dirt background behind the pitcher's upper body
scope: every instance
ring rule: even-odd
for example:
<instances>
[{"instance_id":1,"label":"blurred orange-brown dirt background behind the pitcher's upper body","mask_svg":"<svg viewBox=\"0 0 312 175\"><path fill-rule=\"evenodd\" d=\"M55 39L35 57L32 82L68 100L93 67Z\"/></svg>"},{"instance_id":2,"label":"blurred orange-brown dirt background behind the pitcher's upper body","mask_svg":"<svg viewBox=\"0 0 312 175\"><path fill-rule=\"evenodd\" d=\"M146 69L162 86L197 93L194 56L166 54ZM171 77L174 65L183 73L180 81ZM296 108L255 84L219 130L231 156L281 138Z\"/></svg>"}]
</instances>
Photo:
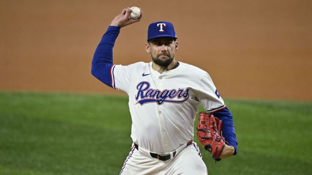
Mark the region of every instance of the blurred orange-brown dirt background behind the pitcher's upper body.
<instances>
[{"instance_id":1,"label":"blurred orange-brown dirt background behind the pitcher's upper body","mask_svg":"<svg viewBox=\"0 0 312 175\"><path fill-rule=\"evenodd\" d=\"M0 90L116 93L91 60L131 6L144 17L121 29L115 64L150 62L147 27L168 20L176 60L208 71L223 98L312 101L311 0L0 0Z\"/></svg>"}]
</instances>

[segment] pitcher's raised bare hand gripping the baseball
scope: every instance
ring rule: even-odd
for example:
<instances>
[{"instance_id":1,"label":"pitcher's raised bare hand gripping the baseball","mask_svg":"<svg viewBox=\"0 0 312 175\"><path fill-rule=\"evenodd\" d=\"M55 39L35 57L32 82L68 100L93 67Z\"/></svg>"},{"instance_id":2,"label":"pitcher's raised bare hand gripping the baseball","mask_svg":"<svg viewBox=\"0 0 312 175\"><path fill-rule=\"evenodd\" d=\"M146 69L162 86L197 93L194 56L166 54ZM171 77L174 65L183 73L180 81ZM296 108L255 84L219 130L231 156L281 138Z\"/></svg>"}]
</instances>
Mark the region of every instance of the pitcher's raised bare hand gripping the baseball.
<instances>
[{"instance_id":1,"label":"pitcher's raised bare hand gripping the baseball","mask_svg":"<svg viewBox=\"0 0 312 175\"><path fill-rule=\"evenodd\" d=\"M139 8L141 10L141 8ZM141 10L141 15L139 18L137 19L132 19L130 18L130 14L131 14L132 10L130 9L130 7L127 7L125 9L122 10L121 14L117 15L111 23L111 26L117 26L117 27L124 27L126 25L138 22L141 20L141 18L143 17L143 12Z\"/></svg>"}]
</instances>

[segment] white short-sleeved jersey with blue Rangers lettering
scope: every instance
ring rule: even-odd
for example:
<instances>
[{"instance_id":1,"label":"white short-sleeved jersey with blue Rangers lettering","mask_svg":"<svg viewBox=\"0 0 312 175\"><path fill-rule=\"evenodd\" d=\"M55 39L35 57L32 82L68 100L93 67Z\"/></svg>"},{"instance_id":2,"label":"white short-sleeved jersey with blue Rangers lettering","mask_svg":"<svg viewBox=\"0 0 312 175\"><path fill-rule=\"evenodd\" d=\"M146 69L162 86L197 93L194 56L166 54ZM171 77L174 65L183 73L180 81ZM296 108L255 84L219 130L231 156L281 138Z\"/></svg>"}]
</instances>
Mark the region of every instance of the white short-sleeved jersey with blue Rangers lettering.
<instances>
[{"instance_id":1,"label":"white short-sleeved jersey with blue Rangers lettering","mask_svg":"<svg viewBox=\"0 0 312 175\"><path fill-rule=\"evenodd\" d=\"M154 153L167 153L193 140L199 103L209 112L225 107L209 74L179 62L159 73L152 62L114 65L112 86L129 95L131 138Z\"/></svg>"}]
</instances>

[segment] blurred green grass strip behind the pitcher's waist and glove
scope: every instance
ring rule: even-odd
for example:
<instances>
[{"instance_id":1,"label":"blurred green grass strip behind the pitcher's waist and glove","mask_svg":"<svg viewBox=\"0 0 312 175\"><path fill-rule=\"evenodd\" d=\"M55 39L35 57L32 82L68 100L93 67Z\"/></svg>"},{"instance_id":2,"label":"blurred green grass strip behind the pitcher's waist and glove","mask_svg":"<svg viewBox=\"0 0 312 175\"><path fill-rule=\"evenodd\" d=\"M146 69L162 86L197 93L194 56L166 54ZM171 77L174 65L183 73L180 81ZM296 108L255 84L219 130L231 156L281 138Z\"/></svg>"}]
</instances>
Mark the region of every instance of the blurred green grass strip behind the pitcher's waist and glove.
<instances>
[{"instance_id":1,"label":"blurred green grass strip behind the pitcher's waist and glove","mask_svg":"<svg viewBox=\"0 0 312 175\"><path fill-rule=\"evenodd\" d=\"M215 163L201 148L209 174L312 174L312 103L225 102L238 154ZM117 175L130 131L127 97L0 92L0 174Z\"/></svg>"}]
</instances>

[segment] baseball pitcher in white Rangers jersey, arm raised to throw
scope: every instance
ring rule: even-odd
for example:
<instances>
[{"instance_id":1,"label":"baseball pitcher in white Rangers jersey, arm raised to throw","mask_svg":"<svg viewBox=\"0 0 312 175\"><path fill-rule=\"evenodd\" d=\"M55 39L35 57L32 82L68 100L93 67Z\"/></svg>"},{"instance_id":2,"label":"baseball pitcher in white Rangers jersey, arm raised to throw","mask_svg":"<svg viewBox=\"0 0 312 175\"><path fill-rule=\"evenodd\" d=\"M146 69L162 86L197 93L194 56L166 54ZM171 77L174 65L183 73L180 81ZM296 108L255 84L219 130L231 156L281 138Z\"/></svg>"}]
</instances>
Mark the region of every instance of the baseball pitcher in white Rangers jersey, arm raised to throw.
<instances>
[{"instance_id":1,"label":"baseball pitcher in white Rangers jersey, arm raised to throw","mask_svg":"<svg viewBox=\"0 0 312 175\"><path fill-rule=\"evenodd\" d=\"M92 74L129 96L132 149L120 175L207 175L207 167L194 142L194 121L201 145L219 161L236 154L233 116L209 74L176 61L177 36L172 23L148 27L145 51L151 62L127 66L113 64L113 47L120 29L141 20L129 18L125 8L111 22L92 60Z\"/></svg>"}]
</instances>

